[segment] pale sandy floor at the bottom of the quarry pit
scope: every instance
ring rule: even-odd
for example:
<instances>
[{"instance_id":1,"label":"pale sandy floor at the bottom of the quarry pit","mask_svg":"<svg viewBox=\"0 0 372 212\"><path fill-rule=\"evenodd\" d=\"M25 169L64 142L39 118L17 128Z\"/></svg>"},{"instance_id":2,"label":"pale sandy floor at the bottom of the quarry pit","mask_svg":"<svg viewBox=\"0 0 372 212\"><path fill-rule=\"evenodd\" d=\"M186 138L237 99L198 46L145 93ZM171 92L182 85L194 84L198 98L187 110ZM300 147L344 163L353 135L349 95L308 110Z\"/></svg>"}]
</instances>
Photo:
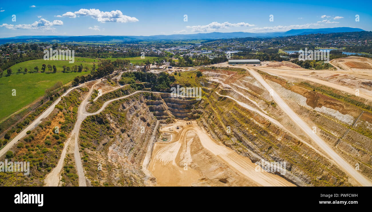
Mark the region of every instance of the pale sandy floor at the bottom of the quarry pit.
<instances>
[{"instance_id":1,"label":"pale sandy floor at the bottom of the quarry pit","mask_svg":"<svg viewBox=\"0 0 372 212\"><path fill-rule=\"evenodd\" d=\"M160 133L171 134L172 140L154 145L148 170L157 186L295 186L257 172L249 158L215 142L196 121L176 120Z\"/></svg>"}]
</instances>

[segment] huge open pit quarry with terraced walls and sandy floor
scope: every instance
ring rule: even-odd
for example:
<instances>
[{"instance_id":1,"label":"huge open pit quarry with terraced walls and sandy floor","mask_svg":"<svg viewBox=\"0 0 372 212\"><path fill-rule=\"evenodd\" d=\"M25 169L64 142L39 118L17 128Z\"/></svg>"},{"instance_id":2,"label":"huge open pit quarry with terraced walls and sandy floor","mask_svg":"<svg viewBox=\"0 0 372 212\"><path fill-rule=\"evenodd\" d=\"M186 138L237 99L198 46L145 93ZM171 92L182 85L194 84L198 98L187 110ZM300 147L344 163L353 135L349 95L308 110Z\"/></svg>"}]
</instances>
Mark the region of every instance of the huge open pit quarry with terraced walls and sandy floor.
<instances>
[{"instance_id":1,"label":"huge open pit quarry with terraced walls and sandy floor","mask_svg":"<svg viewBox=\"0 0 372 212\"><path fill-rule=\"evenodd\" d=\"M74 88L78 94L64 94L78 95L74 122L40 183L371 186L371 60L331 64L337 70L272 63L201 67L201 100L112 83L121 74L81 84ZM53 106L40 117L66 112ZM17 140L10 144L6 150ZM285 171L264 168L270 163L285 164Z\"/></svg>"}]
</instances>

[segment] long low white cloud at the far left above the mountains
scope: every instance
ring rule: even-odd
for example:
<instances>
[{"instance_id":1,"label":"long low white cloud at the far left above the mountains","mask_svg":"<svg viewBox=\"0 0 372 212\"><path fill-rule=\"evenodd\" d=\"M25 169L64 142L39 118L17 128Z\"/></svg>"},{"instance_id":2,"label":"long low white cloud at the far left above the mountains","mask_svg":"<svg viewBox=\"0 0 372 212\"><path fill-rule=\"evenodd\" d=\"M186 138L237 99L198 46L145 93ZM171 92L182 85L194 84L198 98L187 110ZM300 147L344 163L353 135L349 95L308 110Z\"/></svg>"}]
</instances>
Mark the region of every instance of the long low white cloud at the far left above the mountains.
<instances>
[{"instance_id":1,"label":"long low white cloud at the far left above the mountains","mask_svg":"<svg viewBox=\"0 0 372 212\"><path fill-rule=\"evenodd\" d=\"M52 28L51 26L57 26L57 25L63 25L63 22L61 20L54 20L52 22L40 19L39 21L35 21L32 24L19 24L19 25L13 25L13 24L7 24L3 23L0 25L0 27L5 27L7 29L38 29L41 31L48 31L48 32L54 32L55 28Z\"/></svg>"}]
</instances>

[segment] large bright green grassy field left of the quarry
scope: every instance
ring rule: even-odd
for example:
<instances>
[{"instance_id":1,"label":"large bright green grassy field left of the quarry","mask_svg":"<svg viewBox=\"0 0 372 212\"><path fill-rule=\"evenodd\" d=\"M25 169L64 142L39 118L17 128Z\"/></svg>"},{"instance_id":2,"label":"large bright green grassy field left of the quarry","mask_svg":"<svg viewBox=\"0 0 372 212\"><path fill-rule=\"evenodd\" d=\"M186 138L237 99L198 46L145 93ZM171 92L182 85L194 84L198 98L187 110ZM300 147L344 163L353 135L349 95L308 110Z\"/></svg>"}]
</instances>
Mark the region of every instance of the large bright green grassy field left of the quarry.
<instances>
[{"instance_id":1,"label":"large bright green grassy field left of the quarry","mask_svg":"<svg viewBox=\"0 0 372 212\"><path fill-rule=\"evenodd\" d=\"M93 64L98 65L99 60L91 58L75 57L74 63L62 60L29 60L20 62L10 67L12 69L11 76L4 76L0 78L0 120L4 117L16 112L22 107L32 103L37 98L44 95L44 92L49 87L52 87L58 81L62 81L66 84L72 81L76 76L89 74L92 70ZM42 64L55 65L57 67L57 73L49 73L48 68L45 69L45 73L27 73L23 74L25 68L28 71L35 71L35 66L39 67L41 72ZM74 65L83 64L83 67L88 67L89 71L81 73L62 73L62 66L73 67ZM22 67L22 72L17 73L18 68ZM12 90L16 89L16 96L12 96Z\"/></svg>"}]
</instances>

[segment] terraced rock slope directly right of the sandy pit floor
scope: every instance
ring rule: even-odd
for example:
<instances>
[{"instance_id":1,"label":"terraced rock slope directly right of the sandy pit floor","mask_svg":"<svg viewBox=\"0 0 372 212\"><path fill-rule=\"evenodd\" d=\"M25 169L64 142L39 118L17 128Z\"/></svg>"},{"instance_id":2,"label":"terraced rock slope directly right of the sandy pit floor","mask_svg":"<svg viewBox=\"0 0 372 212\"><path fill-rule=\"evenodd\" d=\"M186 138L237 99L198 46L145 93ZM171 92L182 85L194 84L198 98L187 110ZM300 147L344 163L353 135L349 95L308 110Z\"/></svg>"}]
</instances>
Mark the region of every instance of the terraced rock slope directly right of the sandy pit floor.
<instances>
[{"instance_id":1,"label":"terraced rock slope directly right of the sandy pit floor","mask_svg":"<svg viewBox=\"0 0 372 212\"><path fill-rule=\"evenodd\" d=\"M248 84L248 80L246 83ZM230 95L235 99L242 98L227 86L221 86L225 89L221 90L215 86L215 83L205 84L223 95ZM256 89L254 86L251 87ZM208 102L203 101L199 106L204 108L201 116L202 124L217 141L249 157L257 164L260 164L261 159L286 162L287 171L285 175L280 176L298 186L350 185L343 171L330 164L313 149L303 145L269 120L228 98L218 96L214 91L210 93ZM299 94L294 95L299 96ZM249 97L256 98L257 102L262 101L255 97L254 93ZM269 95L264 98L267 98L266 101L270 100ZM305 101L303 102L306 104ZM277 109L265 107L265 110L275 114Z\"/></svg>"}]
</instances>

